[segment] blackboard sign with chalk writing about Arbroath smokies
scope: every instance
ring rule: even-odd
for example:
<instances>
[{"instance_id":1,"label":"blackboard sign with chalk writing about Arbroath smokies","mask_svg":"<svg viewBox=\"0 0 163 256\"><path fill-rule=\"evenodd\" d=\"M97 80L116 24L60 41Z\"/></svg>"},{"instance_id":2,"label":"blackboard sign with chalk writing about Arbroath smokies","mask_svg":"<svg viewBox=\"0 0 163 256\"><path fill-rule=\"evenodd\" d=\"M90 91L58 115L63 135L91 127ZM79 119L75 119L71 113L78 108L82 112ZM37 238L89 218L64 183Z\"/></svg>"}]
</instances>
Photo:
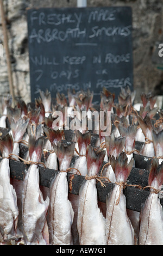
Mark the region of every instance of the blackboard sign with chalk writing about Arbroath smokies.
<instances>
[{"instance_id":1,"label":"blackboard sign with chalk writing about Arbroath smokies","mask_svg":"<svg viewBox=\"0 0 163 256\"><path fill-rule=\"evenodd\" d=\"M46 88L55 98L89 88L99 103L105 87L133 90L130 7L29 9L28 44L32 101Z\"/></svg>"}]
</instances>

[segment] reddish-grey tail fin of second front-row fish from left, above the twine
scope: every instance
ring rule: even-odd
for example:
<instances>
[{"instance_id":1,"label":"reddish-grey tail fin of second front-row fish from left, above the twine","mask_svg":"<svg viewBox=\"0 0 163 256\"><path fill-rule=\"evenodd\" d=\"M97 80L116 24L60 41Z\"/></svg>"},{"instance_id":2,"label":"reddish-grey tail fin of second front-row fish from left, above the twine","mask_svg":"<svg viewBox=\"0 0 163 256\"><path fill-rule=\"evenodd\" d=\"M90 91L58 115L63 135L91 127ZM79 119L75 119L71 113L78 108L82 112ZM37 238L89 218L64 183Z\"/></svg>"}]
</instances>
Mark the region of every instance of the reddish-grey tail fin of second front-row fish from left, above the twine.
<instances>
[{"instance_id":1,"label":"reddish-grey tail fin of second front-row fish from left, above the twine","mask_svg":"<svg viewBox=\"0 0 163 256\"><path fill-rule=\"evenodd\" d=\"M29 136L29 157L31 161L40 162L43 150L43 138L35 139L34 136Z\"/></svg>"}]
</instances>

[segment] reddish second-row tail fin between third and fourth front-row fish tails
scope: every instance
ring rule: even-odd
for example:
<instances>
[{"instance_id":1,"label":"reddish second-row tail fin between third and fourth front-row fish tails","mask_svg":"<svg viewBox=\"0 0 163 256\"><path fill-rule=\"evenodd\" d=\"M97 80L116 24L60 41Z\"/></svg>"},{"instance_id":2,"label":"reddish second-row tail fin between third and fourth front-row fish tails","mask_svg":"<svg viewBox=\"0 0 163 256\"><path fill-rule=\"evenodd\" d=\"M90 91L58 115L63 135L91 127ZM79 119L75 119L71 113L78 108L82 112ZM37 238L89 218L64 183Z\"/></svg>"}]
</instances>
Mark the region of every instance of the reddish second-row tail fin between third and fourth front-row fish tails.
<instances>
[{"instance_id":1,"label":"reddish second-row tail fin between third and fourth front-row fish tails","mask_svg":"<svg viewBox=\"0 0 163 256\"><path fill-rule=\"evenodd\" d=\"M82 133L80 131L76 131L77 142L79 146L80 155L86 154L86 148L91 143L91 132L86 131Z\"/></svg>"}]
</instances>

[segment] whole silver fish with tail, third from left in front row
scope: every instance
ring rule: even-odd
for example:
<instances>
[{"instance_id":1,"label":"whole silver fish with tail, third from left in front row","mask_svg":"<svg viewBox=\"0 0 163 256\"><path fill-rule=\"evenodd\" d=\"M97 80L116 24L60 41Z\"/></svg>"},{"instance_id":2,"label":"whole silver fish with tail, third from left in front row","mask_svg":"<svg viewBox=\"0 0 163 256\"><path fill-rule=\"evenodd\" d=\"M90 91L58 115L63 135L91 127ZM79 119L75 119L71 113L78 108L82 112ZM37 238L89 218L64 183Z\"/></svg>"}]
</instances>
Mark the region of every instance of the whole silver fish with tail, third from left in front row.
<instances>
[{"instance_id":1,"label":"whole silver fish with tail, third from left in front row","mask_svg":"<svg viewBox=\"0 0 163 256\"><path fill-rule=\"evenodd\" d=\"M48 211L49 243L51 245L72 245L71 225L74 212L68 200L67 168L70 167L74 152L74 143L53 144L59 161L60 172L50 188Z\"/></svg>"}]
</instances>

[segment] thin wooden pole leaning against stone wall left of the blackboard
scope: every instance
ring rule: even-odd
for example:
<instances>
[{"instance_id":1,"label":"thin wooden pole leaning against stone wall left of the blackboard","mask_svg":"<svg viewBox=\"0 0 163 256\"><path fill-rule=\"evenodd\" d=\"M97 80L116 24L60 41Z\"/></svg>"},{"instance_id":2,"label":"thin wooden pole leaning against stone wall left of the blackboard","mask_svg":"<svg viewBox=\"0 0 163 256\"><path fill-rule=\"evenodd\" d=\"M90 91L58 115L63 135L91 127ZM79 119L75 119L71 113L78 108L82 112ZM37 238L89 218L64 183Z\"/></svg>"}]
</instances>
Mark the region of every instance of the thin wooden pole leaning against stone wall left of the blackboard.
<instances>
[{"instance_id":1,"label":"thin wooden pole leaning against stone wall left of the blackboard","mask_svg":"<svg viewBox=\"0 0 163 256\"><path fill-rule=\"evenodd\" d=\"M7 56L9 89L10 89L10 94L12 96L12 103L14 104L15 95L14 95L14 87L13 87L13 81L12 81L12 70L11 70L10 53L9 53L9 46L8 46L8 34L7 34L7 27L6 27L5 15L4 15L3 0L0 0L0 6L1 6L2 28L3 28L3 35L4 35L4 47L5 47L5 53Z\"/></svg>"}]
</instances>

